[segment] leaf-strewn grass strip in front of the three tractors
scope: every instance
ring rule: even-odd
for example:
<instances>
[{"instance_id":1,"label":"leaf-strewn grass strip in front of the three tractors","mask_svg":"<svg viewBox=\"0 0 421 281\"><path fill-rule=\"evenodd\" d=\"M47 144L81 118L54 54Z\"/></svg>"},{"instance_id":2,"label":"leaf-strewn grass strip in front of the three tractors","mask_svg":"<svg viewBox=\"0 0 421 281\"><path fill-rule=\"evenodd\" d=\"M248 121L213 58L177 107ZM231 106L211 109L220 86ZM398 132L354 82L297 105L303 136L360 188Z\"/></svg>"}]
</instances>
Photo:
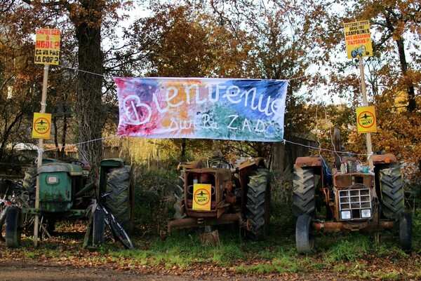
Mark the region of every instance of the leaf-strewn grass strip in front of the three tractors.
<instances>
[{"instance_id":1,"label":"leaf-strewn grass strip in front of the three tractors","mask_svg":"<svg viewBox=\"0 0 421 281\"><path fill-rule=\"evenodd\" d=\"M283 213L281 210L279 212ZM122 249L111 240L93 252L82 250L83 231L60 233L55 238L41 240L37 248L34 248L32 238L25 237L21 250L0 247L4 256L64 260L91 266L112 264L113 267L145 266L166 270L214 266L247 275L320 273L328 270L359 280L409 280L421 277L419 269L405 272L391 266L395 261L411 259L393 239L375 243L370 234L323 234L318 235L312 254L299 255L293 237L280 231L279 225L273 226L267 240L262 242L250 241L233 229L229 225L218 227L220 247L203 247L198 229L174 231L166 240L161 240L156 231L142 229L133 235L136 245L133 250ZM370 262L366 262L366 259L370 259ZM371 261L375 263L376 259L387 260L388 268L373 269ZM414 268L419 268L420 263L420 259L415 261Z\"/></svg>"}]
</instances>

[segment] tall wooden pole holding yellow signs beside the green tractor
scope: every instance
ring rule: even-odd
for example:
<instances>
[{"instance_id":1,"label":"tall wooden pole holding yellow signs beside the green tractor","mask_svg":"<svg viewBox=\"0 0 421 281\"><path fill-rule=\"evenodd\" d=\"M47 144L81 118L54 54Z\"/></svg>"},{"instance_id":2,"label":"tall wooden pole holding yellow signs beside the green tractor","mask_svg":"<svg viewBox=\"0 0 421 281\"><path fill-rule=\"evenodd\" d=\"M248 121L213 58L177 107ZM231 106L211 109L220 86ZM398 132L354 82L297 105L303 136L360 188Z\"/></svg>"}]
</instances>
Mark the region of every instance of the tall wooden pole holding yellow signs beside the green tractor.
<instances>
[{"instance_id":1,"label":"tall wooden pole holding yellow signs beside the green tractor","mask_svg":"<svg viewBox=\"0 0 421 281\"><path fill-rule=\"evenodd\" d=\"M42 95L41 95L41 114L46 112L46 101L47 101L47 84L48 84L48 69L50 64L44 64L44 79L42 81ZM43 151L44 139L39 139L38 142L38 163L37 168L42 165L42 151ZM39 174L36 173L36 191L35 191L35 209L39 210ZM38 246L38 231L39 231L39 217L35 214L34 221L34 246Z\"/></svg>"}]
</instances>

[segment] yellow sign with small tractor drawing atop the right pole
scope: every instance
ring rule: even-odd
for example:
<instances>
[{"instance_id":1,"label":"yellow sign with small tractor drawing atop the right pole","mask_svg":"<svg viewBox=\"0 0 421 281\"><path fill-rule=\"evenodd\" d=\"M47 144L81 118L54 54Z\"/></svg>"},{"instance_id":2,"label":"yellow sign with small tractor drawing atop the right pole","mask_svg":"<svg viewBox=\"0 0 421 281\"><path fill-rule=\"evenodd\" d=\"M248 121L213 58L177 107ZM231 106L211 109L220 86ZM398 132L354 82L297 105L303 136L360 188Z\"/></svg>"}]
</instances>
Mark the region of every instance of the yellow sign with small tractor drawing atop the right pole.
<instances>
[{"instance_id":1,"label":"yellow sign with small tractor drawing atop the right pole","mask_svg":"<svg viewBox=\"0 0 421 281\"><path fill-rule=\"evenodd\" d=\"M356 57L371 57L373 55L370 22L368 22L368 20L344 23L344 29L349 59L354 59Z\"/></svg>"}]
</instances>

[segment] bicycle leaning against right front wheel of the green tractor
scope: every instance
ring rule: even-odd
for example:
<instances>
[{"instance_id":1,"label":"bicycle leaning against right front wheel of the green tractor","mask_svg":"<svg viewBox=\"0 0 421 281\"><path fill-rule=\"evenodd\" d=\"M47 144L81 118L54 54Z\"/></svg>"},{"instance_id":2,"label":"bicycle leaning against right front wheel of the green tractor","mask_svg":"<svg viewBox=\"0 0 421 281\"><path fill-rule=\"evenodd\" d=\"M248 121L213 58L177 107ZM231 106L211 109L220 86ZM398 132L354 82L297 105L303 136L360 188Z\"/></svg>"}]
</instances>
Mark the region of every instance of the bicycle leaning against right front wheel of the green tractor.
<instances>
[{"instance_id":1,"label":"bicycle leaning against right front wheel of the green tractor","mask_svg":"<svg viewBox=\"0 0 421 281\"><path fill-rule=\"evenodd\" d=\"M100 199L105 198L107 195L109 195L109 193L103 194ZM86 209L86 217L89 218L89 221L83 247L88 246L91 231L93 233L93 245L100 245L104 243L105 225L107 225L115 241L121 242L126 249L133 249L133 242L124 228L118 221L116 221L114 215L110 213L107 208L102 205L102 203L100 203L100 200L92 199L91 205L89 205L88 209Z\"/></svg>"}]
</instances>

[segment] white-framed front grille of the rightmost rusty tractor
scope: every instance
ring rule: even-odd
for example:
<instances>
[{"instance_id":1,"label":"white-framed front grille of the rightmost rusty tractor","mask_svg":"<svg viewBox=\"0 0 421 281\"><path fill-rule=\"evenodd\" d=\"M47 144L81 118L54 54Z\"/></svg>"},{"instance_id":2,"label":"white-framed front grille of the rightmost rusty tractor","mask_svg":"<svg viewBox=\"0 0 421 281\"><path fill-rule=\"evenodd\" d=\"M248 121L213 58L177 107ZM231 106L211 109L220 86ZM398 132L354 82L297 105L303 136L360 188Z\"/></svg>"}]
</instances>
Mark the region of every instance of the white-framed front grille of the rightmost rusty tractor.
<instances>
[{"instance_id":1,"label":"white-framed front grille of the rightmost rusty tractor","mask_svg":"<svg viewBox=\"0 0 421 281\"><path fill-rule=\"evenodd\" d=\"M347 219L369 219L368 213L364 210L372 210L371 189L340 189L339 207L341 217L342 212L349 211L350 217L347 217ZM342 219L345 218L342 217Z\"/></svg>"}]
</instances>

